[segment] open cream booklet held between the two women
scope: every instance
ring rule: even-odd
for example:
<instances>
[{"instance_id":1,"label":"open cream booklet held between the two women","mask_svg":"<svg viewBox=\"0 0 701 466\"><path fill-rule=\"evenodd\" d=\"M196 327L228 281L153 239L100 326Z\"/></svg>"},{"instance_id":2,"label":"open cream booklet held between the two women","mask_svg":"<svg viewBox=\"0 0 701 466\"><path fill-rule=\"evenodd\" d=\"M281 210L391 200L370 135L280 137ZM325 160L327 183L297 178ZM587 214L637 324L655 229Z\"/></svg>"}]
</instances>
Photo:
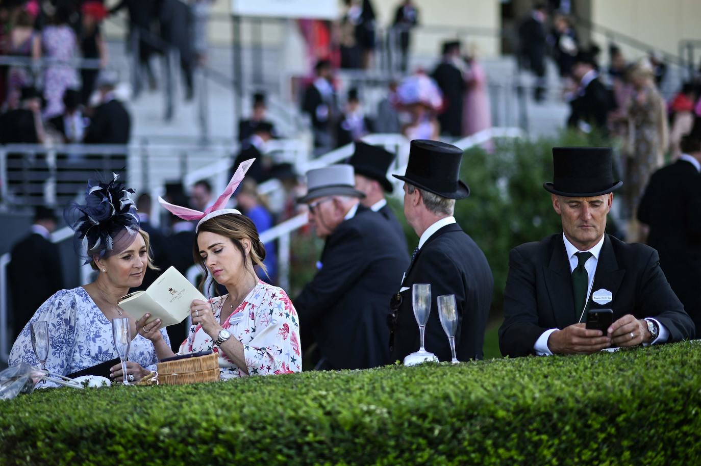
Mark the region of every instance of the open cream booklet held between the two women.
<instances>
[{"instance_id":1,"label":"open cream booklet held between the two women","mask_svg":"<svg viewBox=\"0 0 701 466\"><path fill-rule=\"evenodd\" d=\"M190 314L190 304L194 299L207 301L175 267L165 270L145 292L133 292L123 296L119 307L136 320L151 314L149 322L161 319L161 329L178 324Z\"/></svg>"}]
</instances>

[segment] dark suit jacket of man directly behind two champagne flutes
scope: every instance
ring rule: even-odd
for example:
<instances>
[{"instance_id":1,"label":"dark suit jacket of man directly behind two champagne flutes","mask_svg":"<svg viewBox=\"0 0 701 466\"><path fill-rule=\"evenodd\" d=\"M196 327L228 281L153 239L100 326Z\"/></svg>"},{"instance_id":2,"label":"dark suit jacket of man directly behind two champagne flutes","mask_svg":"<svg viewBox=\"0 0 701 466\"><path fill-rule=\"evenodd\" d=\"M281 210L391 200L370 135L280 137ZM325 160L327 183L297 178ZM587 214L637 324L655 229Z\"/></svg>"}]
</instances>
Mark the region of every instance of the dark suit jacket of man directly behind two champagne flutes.
<instances>
[{"instance_id":1,"label":"dark suit jacket of man directly behind two champagne flutes","mask_svg":"<svg viewBox=\"0 0 701 466\"><path fill-rule=\"evenodd\" d=\"M450 361L448 337L438 317L436 297L454 294L458 306L458 329L455 348L458 359L482 359L484 329L494 277L489 263L479 246L458 224L440 228L419 249L414 263L407 271L401 293L402 305L397 313L392 360L404 359L417 351L420 345L418 324L411 307L411 285L430 283L431 312L426 324L426 351L433 352L441 361Z\"/></svg>"}]
</instances>

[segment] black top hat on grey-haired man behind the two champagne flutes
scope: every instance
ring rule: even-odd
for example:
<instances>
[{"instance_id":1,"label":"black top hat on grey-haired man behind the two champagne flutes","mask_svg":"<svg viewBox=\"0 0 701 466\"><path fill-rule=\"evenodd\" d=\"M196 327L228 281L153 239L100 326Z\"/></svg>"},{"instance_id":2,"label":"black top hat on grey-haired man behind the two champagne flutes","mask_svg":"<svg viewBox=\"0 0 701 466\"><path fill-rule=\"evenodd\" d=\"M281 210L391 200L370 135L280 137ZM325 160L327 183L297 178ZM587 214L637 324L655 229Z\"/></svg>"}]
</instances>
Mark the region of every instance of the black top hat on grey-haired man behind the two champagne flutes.
<instances>
[{"instance_id":1,"label":"black top hat on grey-haired man behind the two champagne flutes","mask_svg":"<svg viewBox=\"0 0 701 466\"><path fill-rule=\"evenodd\" d=\"M462 160L463 151L456 146L414 139L409 149L407 173L403 177L392 176L443 198L464 199L470 196L470 188L458 179Z\"/></svg>"}]
</instances>

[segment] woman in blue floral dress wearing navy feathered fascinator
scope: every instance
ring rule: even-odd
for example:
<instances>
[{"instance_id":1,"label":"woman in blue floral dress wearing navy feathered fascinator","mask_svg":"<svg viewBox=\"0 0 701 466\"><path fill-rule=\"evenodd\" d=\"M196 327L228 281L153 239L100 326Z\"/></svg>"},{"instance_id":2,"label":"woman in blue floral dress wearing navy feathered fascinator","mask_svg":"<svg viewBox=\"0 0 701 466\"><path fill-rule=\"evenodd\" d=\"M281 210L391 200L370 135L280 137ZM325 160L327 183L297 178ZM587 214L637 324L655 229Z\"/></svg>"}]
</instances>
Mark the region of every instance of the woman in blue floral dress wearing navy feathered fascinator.
<instances>
[{"instance_id":1,"label":"woman in blue floral dress wearing navy feathered fascinator","mask_svg":"<svg viewBox=\"0 0 701 466\"><path fill-rule=\"evenodd\" d=\"M88 181L86 203L72 203L64 210L67 224L75 231L74 245L85 263L97 271L88 285L62 289L36 310L20 332L10 352L8 365L26 362L38 366L32 350L30 324L48 321L49 352L46 369L63 376L109 375L122 380L122 369L112 339L111 320L129 317L135 336L127 362L129 381L138 381L156 370L156 352L147 338L139 336L136 321L117 306L121 296L141 285L149 257L149 234L139 229L139 217L130 195L117 181ZM157 332L167 344L165 329Z\"/></svg>"}]
</instances>

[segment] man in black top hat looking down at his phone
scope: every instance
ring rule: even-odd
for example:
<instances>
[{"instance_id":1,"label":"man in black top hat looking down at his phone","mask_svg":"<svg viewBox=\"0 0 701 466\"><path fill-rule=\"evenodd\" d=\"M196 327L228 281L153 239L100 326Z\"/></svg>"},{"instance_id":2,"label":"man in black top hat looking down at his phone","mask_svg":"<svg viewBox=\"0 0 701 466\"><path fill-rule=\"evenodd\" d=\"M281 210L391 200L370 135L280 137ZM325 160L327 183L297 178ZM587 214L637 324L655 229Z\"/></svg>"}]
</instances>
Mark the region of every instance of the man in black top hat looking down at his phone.
<instances>
[{"instance_id":1,"label":"man in black top hat looking down at his phone","mask_svg":"<svg viewBox=\"0 0 701 466\"><path fill-rule=\"evenodd\" d=\"M610 147L554 147L554 181L543 186L562 233L512 249L499 347L510 357L592 353L609 346L694 335L655 249L604 233L613 191ZM613 310L606 329L586 329L587 311Z\"/></svg>"}]
</instances>

